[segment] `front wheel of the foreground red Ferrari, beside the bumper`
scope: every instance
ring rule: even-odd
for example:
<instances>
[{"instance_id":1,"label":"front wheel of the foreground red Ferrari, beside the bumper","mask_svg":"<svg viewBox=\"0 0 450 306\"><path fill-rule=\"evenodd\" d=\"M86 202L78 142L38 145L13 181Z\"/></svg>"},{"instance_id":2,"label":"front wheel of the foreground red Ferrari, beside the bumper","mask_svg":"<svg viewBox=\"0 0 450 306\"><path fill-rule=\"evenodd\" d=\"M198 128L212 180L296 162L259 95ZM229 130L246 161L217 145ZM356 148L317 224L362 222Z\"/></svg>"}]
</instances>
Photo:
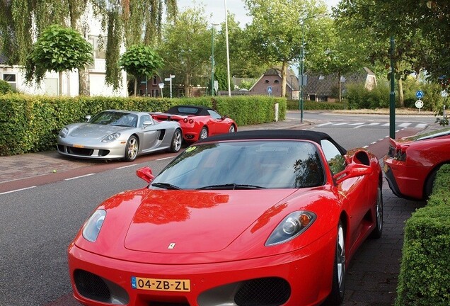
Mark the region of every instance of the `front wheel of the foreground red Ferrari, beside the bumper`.
<instances>
[{"instance_id":1,"label":"front wheel of the foreground red Ferrari, beside the bumper","mask_svg":"<svg viewBox=\"0 0 450 306\"><path fill-rule=\"evenodd\" d=\"M342 221L337 225L335 263L333 265L333 285L327 305L340 305L345 293L345 229Z\"/></svg>"}]
</instances>

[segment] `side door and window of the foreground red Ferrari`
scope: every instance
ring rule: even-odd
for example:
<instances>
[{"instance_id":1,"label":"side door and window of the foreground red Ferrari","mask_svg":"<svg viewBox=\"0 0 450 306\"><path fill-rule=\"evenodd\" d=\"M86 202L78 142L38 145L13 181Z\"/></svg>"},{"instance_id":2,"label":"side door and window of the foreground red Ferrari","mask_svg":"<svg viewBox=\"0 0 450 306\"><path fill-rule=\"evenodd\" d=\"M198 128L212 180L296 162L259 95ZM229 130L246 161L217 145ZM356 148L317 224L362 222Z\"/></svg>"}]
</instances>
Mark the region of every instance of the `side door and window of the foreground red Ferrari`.
<instances>
[{"instance_id":1,"label":"side door and window of the foreground red Ferrari","mask_svg":"<svg viewBox=\"0 0 450 306\"><path fill-rule=\"evenodd\" d=\"M340 153L339 149L329 140L321 140L321 146L328 166L333 176L347 167L345 157ZM362 233L362 220L368 210L368 192L370 188L369 178L367 176L357 176L346 179L336 185L337 192L340 194L342 202L347 204L347 214L349 215L349 224L347 230L349 232L350 249L357 242L359 235ZM350 250L349 249L349 250Z\"/></svg>"}]
</instances>

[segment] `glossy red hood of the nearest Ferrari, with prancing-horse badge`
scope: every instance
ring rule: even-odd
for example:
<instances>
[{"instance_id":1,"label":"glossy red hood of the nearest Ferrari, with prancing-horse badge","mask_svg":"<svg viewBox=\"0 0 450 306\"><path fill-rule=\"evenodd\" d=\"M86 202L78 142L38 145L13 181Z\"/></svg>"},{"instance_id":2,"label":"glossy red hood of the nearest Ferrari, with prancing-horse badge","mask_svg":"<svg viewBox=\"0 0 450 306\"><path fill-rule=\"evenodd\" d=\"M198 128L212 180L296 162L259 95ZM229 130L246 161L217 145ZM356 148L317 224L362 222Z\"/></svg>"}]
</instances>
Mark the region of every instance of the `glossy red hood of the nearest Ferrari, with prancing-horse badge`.
<instances>
[{"instance_id":1,"label":"glossy red hood of the nearest Ferrari, with prancing-horse badge","mask_svg":"<svg viewBox=\"0 0 450 306\"><path fill-rule=\"evenodd\" d=\"M261 217L274 217L273 207L292 192L150 191L132 217L125 248L170 254L220 251Z\"/></svg>"}]
</instances>

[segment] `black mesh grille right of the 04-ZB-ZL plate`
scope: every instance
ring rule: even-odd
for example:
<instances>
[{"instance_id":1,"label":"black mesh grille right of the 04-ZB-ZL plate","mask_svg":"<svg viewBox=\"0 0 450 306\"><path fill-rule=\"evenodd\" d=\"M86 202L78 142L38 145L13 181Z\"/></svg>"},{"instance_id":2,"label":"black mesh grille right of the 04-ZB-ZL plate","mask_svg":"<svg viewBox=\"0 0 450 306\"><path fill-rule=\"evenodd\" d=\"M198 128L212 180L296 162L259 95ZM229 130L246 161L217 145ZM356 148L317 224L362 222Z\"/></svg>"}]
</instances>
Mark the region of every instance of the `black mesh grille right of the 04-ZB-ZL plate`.
<instances>
[{"instance_id":1,"label":"black mesh grille right of the 04-ZB-ZL plate","mask_svg":"<svg viewBox=\"0 0 450 306\"><path fill-rule=\"evenodd\" d=\"M289 299L291 288L282 278L258 278L243 283L234 302L238 306L277 306Z\"/></svg>"}]
</instances>

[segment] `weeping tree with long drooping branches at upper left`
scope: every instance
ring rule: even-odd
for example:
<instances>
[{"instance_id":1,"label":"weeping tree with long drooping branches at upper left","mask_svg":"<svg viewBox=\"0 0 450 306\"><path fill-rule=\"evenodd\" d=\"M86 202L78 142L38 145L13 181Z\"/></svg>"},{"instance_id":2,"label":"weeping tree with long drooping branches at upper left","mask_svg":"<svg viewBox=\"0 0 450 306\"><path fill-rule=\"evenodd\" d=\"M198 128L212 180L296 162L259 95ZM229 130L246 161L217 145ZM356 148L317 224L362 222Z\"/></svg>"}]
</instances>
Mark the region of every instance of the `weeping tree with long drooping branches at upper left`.
<instances>
[{"instance_id":1,"label":"weeping tree with long drooping branches at upper left","mask_svg":"<svg viewBox=\"0 0 450 306\"><path fill-rule=\"evenodd\" d=\"M154 45L161 40L164 11L171 20L178 8L176 0L0 1L0 52L8 56L8 64L25 65L33 40L51 24L70 26L86 38L89 27L81 21L81 16L91 11L102 21L103 30L107 32L106 83L117 89L121 46L141 42ZM83 67L80 72L80 94L87 95L88 72Z\"/></svg>"}]
</instances>

